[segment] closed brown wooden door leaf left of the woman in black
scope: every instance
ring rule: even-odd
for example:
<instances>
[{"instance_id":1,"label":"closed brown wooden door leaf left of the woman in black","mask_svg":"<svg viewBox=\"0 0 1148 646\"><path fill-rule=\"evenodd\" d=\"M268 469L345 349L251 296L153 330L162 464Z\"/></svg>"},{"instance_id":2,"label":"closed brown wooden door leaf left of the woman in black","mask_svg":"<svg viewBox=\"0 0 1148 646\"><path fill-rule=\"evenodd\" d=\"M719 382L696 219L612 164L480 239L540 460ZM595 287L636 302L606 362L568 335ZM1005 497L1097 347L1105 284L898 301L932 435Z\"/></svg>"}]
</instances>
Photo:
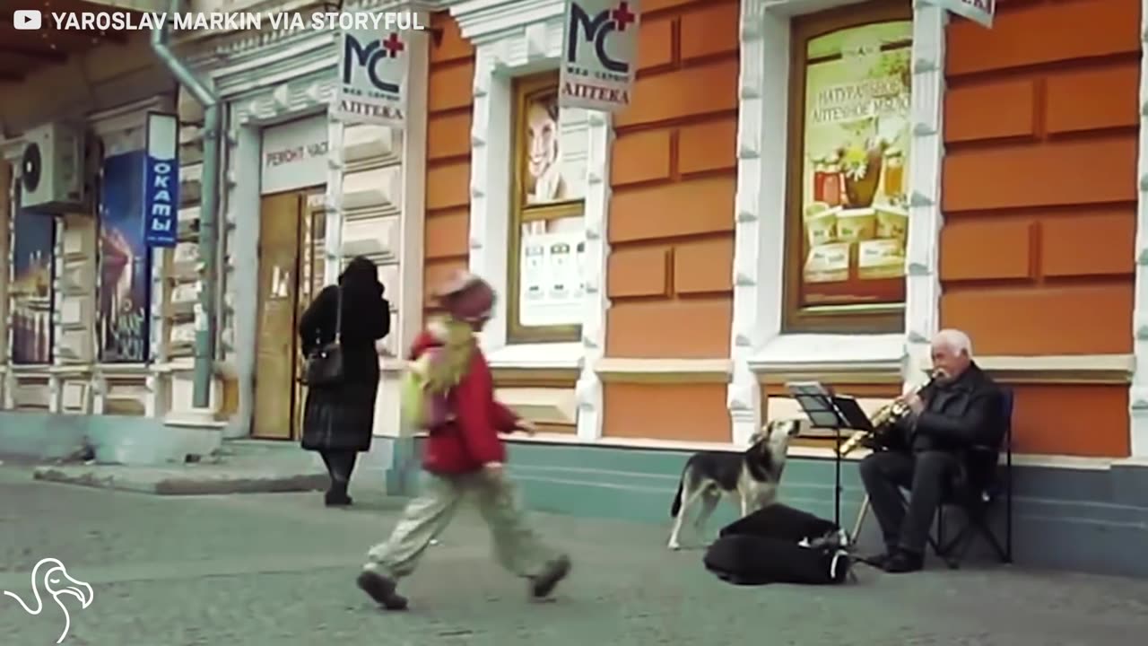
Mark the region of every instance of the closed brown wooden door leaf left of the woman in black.
<instances>
[{"instance_id":1,"label":"closed brown wooden door leaf left of the woman in black","mask_svg":"<svg viewBox=\"0 0 1148 646\"><path fill-rule=\"evenodd\" d=\"M266 195L259 205L258 336L251 436L295 439L303 193Z\"/></svg>"}]
</instances>

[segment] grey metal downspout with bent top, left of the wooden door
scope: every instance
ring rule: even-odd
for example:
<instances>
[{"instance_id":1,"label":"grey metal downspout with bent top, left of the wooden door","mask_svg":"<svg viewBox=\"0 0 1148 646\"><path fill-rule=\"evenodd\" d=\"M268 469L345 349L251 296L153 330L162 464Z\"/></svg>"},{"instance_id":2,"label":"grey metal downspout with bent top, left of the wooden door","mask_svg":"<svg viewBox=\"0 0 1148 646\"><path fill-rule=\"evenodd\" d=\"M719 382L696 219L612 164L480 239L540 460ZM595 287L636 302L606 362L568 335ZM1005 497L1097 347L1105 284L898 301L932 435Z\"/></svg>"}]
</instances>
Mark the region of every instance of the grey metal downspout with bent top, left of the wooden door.
<instances>
[{"instance_id":1,"label":"grey metal downspout with bent top, left of the wooden door","mask_svg":"<svg viewBox=\"0 0 1148 646\"><path fill-rule=\"evenodd\" d=\"M168 15L179 11L183 0L171 0ZM192 406L211 406L211 375L215 367L216 330L216 233L219 210L219 99L180 61L168 46L168 25L152 32L152 49L179 84L203 106L203 174L200 180L200 302L195 313L195 380Z\"/></svg>"}]
</instances>

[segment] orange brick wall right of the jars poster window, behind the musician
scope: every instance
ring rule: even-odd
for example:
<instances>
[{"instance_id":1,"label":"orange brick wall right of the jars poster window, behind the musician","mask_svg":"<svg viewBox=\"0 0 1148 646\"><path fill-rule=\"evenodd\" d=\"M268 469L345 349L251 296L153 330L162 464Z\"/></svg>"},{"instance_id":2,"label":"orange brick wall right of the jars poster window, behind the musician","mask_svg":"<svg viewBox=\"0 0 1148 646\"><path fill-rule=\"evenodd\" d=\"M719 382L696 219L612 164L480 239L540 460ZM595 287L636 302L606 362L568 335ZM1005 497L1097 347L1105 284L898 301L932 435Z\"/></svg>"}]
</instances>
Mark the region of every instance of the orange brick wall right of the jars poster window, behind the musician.
<instances>
[{"instance_id":1,"label":"orange brick wall right of the jars poster window, behind the musician","mask_svg":"<svg viewBox=\"0 0 1148 646\"><path fill-rule=\"evenodd\" d=\"M1132 352L1139 0L947 33L941 323L978 354ZM1018 448L1126 455L1126 386L1017 389Z\"/></svg>"}]
</instances>

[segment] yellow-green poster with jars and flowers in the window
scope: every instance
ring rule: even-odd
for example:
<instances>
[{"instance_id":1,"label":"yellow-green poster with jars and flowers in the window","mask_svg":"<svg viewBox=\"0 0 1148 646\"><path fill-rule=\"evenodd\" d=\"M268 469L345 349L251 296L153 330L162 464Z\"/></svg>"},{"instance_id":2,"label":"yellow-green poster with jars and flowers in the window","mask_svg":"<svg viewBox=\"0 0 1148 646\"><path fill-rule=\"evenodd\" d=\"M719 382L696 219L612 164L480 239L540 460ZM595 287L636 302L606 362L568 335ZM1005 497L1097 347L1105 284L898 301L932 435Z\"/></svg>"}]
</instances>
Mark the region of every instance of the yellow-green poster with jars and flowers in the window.
<instances>
[{"instance_id":1,"label":"yellow-green poster with jars and flowers in the window","mask_svg":"<svg viewBox=\"0 0 1148 646\"><path fill-rule=\"evenodd\" d=\"M909 21L807 43L804 307L905 299L912 44Z\"/></svg>"}]
</instances>

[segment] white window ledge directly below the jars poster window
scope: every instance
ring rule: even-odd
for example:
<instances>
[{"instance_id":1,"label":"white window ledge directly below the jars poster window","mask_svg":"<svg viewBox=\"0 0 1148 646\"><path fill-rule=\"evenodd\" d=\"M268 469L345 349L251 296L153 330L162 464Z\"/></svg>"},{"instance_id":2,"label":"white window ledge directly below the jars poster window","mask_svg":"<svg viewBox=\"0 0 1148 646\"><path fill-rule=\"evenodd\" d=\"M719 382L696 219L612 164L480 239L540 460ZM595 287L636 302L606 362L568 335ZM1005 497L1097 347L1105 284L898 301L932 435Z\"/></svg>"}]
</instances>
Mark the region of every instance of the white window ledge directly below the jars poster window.
<instances>
[{"instance_id":1,"label":"white window ledge directly below the jars poster window","mask_svg":"<svg viewBox=\"0 0 1148 646\"><path fill-rule=\"evenodd\" d=\"M781 334L750 357L754 372L900 372L905 336Z\"/></svg>"}]
</instances>

